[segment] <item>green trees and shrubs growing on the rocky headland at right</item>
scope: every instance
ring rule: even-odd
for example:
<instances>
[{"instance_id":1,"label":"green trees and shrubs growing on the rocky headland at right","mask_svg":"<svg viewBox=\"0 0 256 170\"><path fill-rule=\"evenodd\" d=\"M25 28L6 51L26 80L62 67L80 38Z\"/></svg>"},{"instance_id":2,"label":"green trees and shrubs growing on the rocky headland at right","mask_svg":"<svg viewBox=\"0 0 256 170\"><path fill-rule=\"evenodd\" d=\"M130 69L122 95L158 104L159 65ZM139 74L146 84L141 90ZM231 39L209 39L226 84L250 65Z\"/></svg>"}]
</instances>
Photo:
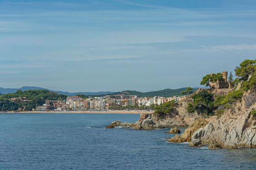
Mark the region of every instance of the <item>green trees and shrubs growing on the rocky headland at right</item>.
<instances>
[{"instance_id":1,"label":"green trees and shrubs growing on the rocky headland at right","mask_svg":"<svg viewBox=\"0 0 256 170\"><path fill-rule=\"evenodd\" d=\"M187 110L190 113L198 112L207 115L221 115L225 108L231 107L233 102L242 99L244 91L256 92L256 60L245 60L235 70L237 78L233 80L230 73L229 82L235 86L241 82L241 89L236 89L224 96L213 96L209 90L203 90L193 96L193 102L188 104ZM221 73L208 74L203 77L201 85L210 86L210 83L217 83L223 80ZM208 92L207 92L208 91Z\"/></svg>"}]
</instances>

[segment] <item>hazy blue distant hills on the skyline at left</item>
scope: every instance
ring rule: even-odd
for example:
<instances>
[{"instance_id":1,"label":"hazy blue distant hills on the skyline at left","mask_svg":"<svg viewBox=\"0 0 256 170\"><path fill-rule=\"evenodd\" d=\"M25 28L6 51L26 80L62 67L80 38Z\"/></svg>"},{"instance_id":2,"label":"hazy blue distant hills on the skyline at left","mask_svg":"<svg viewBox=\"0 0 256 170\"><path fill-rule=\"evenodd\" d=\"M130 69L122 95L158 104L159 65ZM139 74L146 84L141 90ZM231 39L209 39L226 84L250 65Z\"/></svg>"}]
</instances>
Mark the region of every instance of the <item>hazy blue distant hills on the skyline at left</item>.
<instances>
[{"instance_id":1,"label":"hazy blue distant hills on the skyline at left","mask_svg":"<svg viewBox=\"0 0 256 170\"><path fill-rule=\"evenodd\" d=\"M78 94L84 94L86 96L95 96L95 95L106 95L106 94L116 93L116 92L111 92L111 91L70 93L70 92L67 92L67 91L56 91L56 90L50 90L50 89L47 89L47 88L34 87L34 86L24 86L24 87L21 87L21 88L2 88L2 87L0 87L0 93L1 94L15 93L17 90L21 90L21 91L26 91L26 90L49 90L49 91L53 91L53 92L58 93L58 94L64 94L64 95L67 95L67 96L76 96Z\"/></svg>"}]
</instances>

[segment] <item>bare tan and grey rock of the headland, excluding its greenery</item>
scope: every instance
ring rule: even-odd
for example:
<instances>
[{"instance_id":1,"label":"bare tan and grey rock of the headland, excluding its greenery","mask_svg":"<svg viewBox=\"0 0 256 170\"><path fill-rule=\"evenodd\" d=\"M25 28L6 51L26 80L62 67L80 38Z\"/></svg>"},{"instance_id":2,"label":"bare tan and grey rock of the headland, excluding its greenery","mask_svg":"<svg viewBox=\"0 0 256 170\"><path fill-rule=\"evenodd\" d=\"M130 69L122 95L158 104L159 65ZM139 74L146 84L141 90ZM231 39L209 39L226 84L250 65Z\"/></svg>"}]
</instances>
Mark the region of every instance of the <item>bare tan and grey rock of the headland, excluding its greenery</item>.
<instances>
[{"instance_id":1,"label":"bare tan and grey rock of the headland, excluding its greenery","mask_svg":"<svg viewBox=\"0 0 256 170\"><path fill-rule=\"evenodd\" d=\"M177 135L167 140L172 143L190 142L189 145L192 147L206 145L209 149L256 148L256 115L251 114L256 110L255 93L245 92L242 99L234 102L232 107L226 108L221 117L204 118L197 113L188 113L185 108L190 100L178 103L171 113L141 113L138 121L134 123L117 120L106 128L153 130L188 126L181 135L178 135L178 129L171 129L171 134L177 133Z\"/></svg>"}]
</instances>

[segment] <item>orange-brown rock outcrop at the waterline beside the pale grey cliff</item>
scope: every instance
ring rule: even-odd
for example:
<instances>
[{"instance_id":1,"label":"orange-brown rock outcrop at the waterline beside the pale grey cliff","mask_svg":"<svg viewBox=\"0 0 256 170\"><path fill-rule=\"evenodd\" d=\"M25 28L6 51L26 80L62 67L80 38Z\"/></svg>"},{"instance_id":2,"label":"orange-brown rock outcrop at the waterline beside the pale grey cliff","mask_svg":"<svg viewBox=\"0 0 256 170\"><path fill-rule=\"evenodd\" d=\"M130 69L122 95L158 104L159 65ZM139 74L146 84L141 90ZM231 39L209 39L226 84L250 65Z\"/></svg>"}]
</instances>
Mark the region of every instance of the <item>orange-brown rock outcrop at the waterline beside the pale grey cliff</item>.
<instances>
[{"instance_id":1,"label":"orange-brown rock outcrop at the waterline beside the pale grey cliff","mask_svg":"<svg viewBox=\"0 0 256 170\"><path fill-rule=\"evenodd\" d=\"M174 143L190 142L194 132L206 126L207 124L208 121L206 121L205 119L196 119L180 136L176 135L168 139L168 141Z\"/></svg>"}]
</instances>

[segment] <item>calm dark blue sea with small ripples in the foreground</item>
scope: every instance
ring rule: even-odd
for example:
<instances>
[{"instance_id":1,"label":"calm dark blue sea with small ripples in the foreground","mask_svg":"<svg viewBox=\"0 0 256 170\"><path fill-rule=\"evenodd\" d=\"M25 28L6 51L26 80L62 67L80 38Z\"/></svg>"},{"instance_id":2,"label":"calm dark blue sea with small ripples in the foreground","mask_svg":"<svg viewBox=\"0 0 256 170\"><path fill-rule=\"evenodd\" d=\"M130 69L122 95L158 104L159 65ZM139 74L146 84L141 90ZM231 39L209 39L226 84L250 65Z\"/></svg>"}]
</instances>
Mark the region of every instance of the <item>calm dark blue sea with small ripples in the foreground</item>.
<instances>
[{"instance_id":1,"label":"calm dark blue sea with small ripples in the foreground","mask_svg":"<svg viewBox=\"0 0 256 170\"><path fill-rule=\"evenodd\" d=\"M168 143L168 129L105 129L135 114L0 114L0 170L256 169L256 150ZM184 130L184 128L182 129Z\"/></svg>"}]
</instances>

